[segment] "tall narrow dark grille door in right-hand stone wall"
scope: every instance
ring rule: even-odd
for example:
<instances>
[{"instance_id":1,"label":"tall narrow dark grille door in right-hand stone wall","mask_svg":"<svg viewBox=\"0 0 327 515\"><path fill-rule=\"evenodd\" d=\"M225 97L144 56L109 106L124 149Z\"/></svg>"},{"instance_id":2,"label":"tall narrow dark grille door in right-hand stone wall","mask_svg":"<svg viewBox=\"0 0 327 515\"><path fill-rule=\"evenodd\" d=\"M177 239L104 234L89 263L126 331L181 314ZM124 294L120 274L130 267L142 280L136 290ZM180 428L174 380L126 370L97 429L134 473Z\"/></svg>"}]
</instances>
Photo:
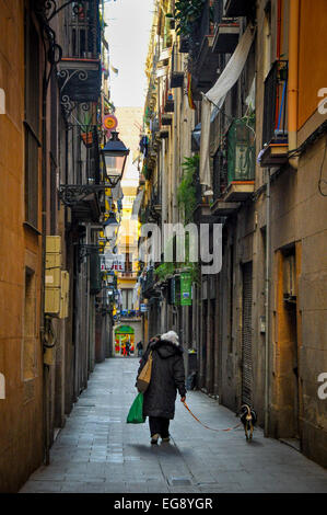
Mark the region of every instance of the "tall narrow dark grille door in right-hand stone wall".
<instances>
[{"instance_id":1,"label":"tall narrow dark grille door in right-hand stone wall","mask_svg":"<svg viewBox=\"0 0 327 515\"><path fill-rule=\"evenodd\" d=\"M253 264L243 266L243 313L242 313L242 402L252 404L252 300Z\"/></svg>"}]
</instances>

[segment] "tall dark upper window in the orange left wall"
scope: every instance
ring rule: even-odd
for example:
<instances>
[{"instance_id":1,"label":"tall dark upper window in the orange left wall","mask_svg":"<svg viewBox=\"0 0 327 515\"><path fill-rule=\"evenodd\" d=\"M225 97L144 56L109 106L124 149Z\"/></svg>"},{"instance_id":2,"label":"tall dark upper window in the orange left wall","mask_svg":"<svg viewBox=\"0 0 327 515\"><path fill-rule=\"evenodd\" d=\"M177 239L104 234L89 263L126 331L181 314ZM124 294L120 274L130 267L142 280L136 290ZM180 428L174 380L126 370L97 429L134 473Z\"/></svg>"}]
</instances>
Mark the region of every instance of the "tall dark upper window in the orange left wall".
<instances>
[{"instance_id":1,"label":"tall dark upper window in the orange left wall","mask_svg":"<svg viewBox=\"0 0 327 515\"><path fill-rule=\"evenodd\" d=\"M25 16L25 220L38 226L39 44Z\"/></svg>"}]
</instances>

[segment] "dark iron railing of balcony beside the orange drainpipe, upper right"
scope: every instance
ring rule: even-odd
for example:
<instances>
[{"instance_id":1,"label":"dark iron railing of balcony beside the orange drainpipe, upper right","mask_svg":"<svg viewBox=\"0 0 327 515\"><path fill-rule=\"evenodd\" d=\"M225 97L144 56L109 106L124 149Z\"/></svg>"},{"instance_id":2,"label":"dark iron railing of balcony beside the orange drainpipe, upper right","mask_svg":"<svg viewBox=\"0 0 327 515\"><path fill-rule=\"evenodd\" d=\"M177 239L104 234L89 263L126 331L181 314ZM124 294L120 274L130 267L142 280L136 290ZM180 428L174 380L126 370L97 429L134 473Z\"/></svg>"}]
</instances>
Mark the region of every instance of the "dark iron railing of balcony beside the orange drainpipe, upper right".
<instances>
[{"instance_id":1,"label":"dark iron railing of balcony beside the orange drainpipe, upper right","mask_svg":"<svg viewBox=\"0 0 327 515\"><path fill-rule=\"evenodd\" d=\"M288 137L288 61L276 60L265 80L262 147Z\"/></svg>"}]
</instances>

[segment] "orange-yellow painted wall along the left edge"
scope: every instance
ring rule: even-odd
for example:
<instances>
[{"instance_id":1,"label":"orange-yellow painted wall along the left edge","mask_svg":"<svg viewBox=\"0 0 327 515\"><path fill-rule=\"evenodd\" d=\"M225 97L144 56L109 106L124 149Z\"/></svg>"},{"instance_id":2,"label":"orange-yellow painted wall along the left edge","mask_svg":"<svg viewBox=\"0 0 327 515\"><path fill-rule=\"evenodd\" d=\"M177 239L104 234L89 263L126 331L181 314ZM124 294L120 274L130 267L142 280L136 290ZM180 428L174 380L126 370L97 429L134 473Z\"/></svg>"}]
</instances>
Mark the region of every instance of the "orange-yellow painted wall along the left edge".
<instances>
[{"instance_id":1,"label":"orange-yellow painted wall along the left edge","mask_svg":"<svg viewBox=\"0 0 327 515\"><path fill-rule=\"evenodd\" d=\"M5 377L5 399L0 399L0 492L16 491L43 457L40 236L23 226L23 3L0 0L0 88L7 104L7 114L0 114L0 373ZM40 196L35 202L40 213ZM31 291L35 323L28 328L28 339L24 339L26 266L35 272Z\"/></svg>"}]
</instances>

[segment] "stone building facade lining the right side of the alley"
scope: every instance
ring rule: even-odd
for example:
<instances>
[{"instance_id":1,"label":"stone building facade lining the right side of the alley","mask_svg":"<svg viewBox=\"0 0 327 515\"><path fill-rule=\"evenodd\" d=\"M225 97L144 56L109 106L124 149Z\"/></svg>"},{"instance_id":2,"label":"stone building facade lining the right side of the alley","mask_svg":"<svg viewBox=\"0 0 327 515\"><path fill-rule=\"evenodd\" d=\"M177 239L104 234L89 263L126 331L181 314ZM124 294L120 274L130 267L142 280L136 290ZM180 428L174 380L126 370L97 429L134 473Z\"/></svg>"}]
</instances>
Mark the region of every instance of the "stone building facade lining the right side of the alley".
<instances>
[{"instance_id":1,"label":"stone building facade lining the right side of the alley","mask_svg":"<svg viewBox=\"0 0 327 515\"><path fill-rule=\"evenodd\" d=\"M235 412L250 403L267 436L288 439L326 466L327 404L318 396L327 348L325 2L208 1L190 38L163 23L173 11L157 2L149 50L145 113L160 123L154 135L148 130L151 173L141 216L184 220L182 164L203 148L201 93L210 95L227 69L232 85L211 110L210 184L195 171L192 217L222 225L222 270L198 275L192 306L185 307L170 297L180 264L166 277L160 261L148 264L148 336L175 328L186 351L197 351L198 388ZM248 30L253 42L233 79L227 64ZM161 209L153 210L160 178Z\"/></svg>"}]
</instances>

